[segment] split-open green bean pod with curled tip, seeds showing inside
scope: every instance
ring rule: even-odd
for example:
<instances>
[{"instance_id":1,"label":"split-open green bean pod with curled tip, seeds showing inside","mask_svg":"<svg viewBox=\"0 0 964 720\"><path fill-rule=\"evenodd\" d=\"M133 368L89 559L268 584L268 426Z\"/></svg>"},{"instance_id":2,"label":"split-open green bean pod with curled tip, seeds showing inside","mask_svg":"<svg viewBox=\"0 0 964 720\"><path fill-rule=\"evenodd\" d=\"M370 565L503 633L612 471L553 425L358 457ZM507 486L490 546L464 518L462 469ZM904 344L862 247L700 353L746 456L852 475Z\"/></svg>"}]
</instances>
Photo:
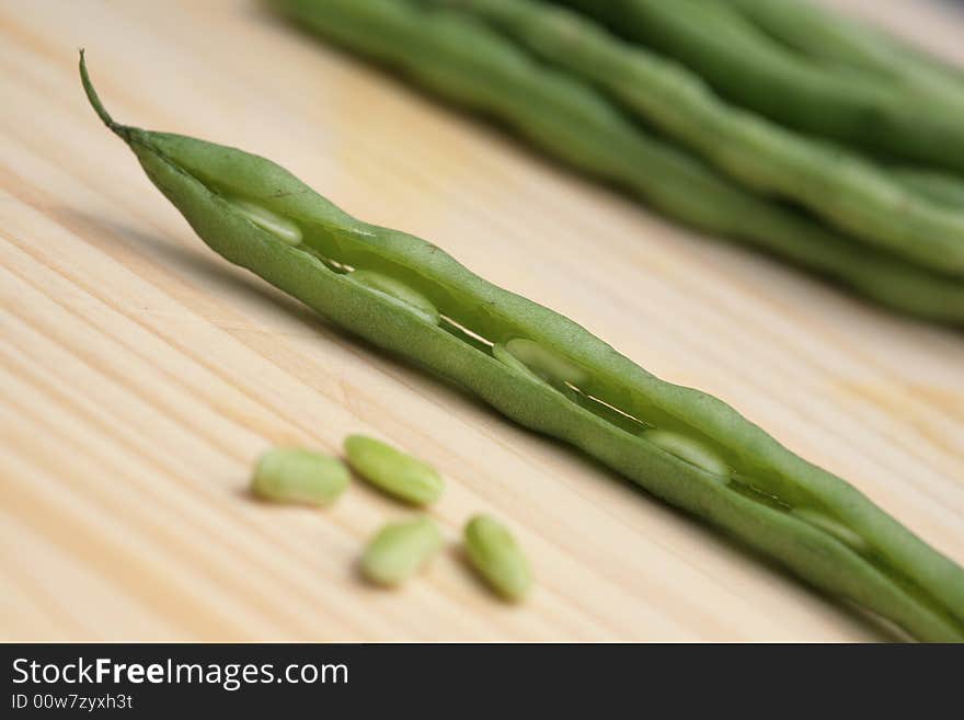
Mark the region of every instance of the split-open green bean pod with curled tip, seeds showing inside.
<instances>
[{"instance_id":1,"label":"split-open green bean pod with curled tip, seeds showing inside","mask_svg":"<svg viewBox=\"0 0 964 720\"><path fill-rule=\"evenodd\" d=\"M452 26L457 45L462 21ZM444 64L439 72L447 72ZM810 583L921 640L964 640L964 570L722 401L659 380L434 244L346 215L264 158L115 123L82 56L81 77L101 119L227 260L519 424L582 449ZM507 547L496 529L474 528L480 552ZM516 564L490 580L520 592L528 575Z\"/></svg>"}]
</instances>

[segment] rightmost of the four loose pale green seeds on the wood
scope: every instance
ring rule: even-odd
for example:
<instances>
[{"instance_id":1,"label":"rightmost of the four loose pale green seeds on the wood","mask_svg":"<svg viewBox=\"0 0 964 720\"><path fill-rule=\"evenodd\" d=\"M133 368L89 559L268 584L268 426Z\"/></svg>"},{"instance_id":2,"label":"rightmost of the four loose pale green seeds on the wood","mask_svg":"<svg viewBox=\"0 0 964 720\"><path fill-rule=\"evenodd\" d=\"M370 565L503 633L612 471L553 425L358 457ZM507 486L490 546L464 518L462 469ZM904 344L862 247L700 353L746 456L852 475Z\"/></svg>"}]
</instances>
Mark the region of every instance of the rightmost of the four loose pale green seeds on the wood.
<instances>
[{"instance_id":1,"label":"rightmost of the four loose pale green seeds on the wood","mask_svg":"<svg viewBox=\"0 0 964 720\"><path fill-rule=\"evenodd\" d=\"M466 555L498 595L519 601L532 586L529 561L512 534L496 519L475 515L466 525Z\"/></svg>"}]
</instances>

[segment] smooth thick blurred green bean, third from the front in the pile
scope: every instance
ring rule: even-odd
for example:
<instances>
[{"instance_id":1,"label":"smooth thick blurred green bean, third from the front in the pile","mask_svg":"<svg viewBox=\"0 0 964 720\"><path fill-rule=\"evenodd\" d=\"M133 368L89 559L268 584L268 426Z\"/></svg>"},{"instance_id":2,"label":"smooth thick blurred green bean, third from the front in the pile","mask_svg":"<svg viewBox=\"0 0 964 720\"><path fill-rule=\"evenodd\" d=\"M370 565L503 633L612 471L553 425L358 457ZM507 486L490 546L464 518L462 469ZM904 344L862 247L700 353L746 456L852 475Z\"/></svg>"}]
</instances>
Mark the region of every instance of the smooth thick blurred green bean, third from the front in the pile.
<instances>
[{"instance_id":1,"label":"smooth thick blurred green bean, third from the front in the pile","mask_svg":"<svg viewBox=\"0 0 964 720\"><path fill-rule=\"evenodd\" d=\"M552 0L676 58L733 102L805 133L908 164L964 173L964 122L956 103L828 72L767 35L723 1Z\"/></svg>"}]
</instances>

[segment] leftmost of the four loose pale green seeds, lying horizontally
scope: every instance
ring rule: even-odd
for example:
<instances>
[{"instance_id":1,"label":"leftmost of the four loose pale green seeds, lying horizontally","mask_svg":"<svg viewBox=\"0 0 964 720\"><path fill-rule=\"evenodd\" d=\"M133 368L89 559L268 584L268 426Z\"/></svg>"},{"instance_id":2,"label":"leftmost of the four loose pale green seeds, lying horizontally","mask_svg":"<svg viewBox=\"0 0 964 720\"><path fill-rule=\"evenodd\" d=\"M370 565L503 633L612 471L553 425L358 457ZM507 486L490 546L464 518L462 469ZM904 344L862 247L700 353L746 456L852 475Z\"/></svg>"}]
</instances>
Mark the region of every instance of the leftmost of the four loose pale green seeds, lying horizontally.
<instances>
[{"instance_id":1,"label":"leftmost of the four loose pale green seeds, lying horizontally","mask_svg":"<svg viewBox=\"0 0 964 720\"><path fill-rule=\"evenodd\" d=\"M295 447L274 447L261 456L251 491L276 503L328 505L348 487L348 468L337 458Z\"/></svg>"}]
</instances>

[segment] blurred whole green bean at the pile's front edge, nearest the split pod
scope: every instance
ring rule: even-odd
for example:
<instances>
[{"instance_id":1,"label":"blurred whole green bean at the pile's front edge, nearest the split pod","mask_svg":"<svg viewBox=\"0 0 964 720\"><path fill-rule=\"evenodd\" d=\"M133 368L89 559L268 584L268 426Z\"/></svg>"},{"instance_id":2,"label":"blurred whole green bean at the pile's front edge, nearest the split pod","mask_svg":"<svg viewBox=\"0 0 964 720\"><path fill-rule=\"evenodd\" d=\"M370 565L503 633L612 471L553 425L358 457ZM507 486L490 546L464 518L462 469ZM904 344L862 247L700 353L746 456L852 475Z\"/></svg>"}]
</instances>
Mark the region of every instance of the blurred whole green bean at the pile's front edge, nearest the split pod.
<instances>
[{"instance_id":1,"label":"blurred whole green bean at the pile's front edge, nearest the split pod","mask_svg":"<svg viewBox=\"0 0 964 720\"><path fill-rule=\"evenodd\" d=\"M512 125L550 153L619 183L690 226L742 240L892 308L964 322L964 283L908 266L735 186L628 121L586 83L456 11L406 0L274 0L292 20Z\"/></svg>"}]
</instances>

